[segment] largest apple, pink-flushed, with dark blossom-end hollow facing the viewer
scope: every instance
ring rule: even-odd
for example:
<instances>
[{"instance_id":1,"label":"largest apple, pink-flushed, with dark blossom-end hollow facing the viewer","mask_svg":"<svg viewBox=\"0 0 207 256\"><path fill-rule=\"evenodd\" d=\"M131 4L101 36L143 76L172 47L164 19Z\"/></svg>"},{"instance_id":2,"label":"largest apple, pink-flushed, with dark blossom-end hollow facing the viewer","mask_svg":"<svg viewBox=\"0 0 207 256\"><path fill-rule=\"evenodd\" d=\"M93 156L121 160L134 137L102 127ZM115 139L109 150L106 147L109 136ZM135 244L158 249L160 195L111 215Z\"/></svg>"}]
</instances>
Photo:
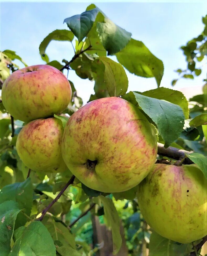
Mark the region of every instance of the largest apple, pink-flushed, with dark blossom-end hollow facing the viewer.
<instances>
[{"instance_id":1,"label":"largest apple, pink-flushed, with dark blossom-end hollow facing the viewer","mask_svg":"<svg viewBox=\"0 0 207 256\"><path fill-rule=\"evenodd\" d=\"M122 192L140 183L153 167L157 138L137 107L107 97L89 102L70 117L62 156L89 188Z\"/></svg>"}]
</instances>

